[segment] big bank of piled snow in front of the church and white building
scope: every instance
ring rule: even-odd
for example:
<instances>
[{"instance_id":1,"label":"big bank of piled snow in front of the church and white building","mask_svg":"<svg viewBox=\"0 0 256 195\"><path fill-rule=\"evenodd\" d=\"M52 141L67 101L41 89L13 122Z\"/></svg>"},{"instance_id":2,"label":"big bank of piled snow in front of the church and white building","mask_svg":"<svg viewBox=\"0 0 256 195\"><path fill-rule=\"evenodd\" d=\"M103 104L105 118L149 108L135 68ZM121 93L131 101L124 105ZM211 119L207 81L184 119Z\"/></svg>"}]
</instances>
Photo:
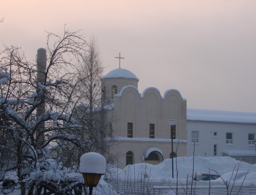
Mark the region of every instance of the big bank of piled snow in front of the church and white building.
<instances>
[{"instance_id":1,"label":"big bank of piled snow in front of the church and white building","mask_svg":"<svg viewBox=\"0 0 256 195\"><path fill-rule=\"evenodd\" d=\"M177 168L176 168L177 165ZM159 182L176 182L176 170L178 179L187 178L187 175L193 172L193 157L177 157L173 159L174 179L172 178L172 159L166 159L158 165L140 163L128 165L123 170L119 169L117 173L118 180L126 181L129 175L129 180L140 180L142 172L147 172L149 178L154 178ZM256 172L256 166L246 162L240 162L231 157L194 157L194 173L210 172L214 175L223 175L229 172L250 171ZM254 177L256 178L256 177ZM186 179L185 179L186 180Z\"/></svg>"}]
</instances>

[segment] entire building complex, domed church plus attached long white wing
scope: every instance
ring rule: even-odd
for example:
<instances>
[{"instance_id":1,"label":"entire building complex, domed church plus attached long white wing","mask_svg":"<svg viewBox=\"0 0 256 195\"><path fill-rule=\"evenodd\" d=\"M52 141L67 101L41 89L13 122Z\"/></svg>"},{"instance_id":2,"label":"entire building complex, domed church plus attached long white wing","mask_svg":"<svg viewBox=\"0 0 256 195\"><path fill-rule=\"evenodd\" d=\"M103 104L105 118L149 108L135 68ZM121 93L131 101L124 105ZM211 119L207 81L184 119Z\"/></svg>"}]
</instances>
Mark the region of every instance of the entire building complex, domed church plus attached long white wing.
<instances>
[{"instance_id":1,"label":"entire building complex, domed church plus attached long white wing","mask_svg":"<svg viewBox=\"0 0 256 195\"><path fill-rule=\"evenodd\" d=\"M101 78L105 141L120 168L134 163L161 163L171 158L169 119L176 121L173 156L230 156L256 163L256 113L187 109L175 89L162 96L157 88L138 91L139 79L117 68ZM105 153L105 155L108 155Z\"/></svg>"}]
</instances>

